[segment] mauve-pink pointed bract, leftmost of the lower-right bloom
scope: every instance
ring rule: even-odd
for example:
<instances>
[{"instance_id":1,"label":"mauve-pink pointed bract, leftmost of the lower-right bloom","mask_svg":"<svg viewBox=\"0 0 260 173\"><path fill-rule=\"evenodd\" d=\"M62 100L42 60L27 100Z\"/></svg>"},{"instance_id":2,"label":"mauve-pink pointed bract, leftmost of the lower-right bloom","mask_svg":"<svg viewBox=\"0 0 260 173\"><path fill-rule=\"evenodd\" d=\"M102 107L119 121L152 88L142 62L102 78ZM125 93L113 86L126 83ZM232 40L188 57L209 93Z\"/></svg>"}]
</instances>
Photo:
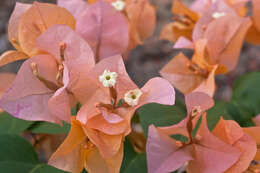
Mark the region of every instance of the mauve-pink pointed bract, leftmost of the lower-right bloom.
<instances>
[{"instance_id":1,"label":"mauve-pink pointed bract, leftmost of the lower-right bloom","mask_svg":"<svg viewBox=\"0 0 260 173\"><path fill-rule=\"evenodd\" d=\"M153 125L149 127L146 152L149 173L172 172L192 159L191 153L179 149L171 137Z\"/></svg>"}]
</instances>

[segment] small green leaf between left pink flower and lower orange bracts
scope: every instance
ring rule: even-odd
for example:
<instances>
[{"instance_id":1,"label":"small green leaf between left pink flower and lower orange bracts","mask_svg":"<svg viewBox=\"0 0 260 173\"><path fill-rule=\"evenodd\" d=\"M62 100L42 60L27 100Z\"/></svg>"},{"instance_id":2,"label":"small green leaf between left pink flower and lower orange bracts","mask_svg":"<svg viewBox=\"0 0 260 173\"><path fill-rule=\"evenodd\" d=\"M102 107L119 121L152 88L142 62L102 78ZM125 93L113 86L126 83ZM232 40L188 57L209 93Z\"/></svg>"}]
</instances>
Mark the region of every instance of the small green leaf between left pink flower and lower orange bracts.
<instances>
[{"instance_id":1,"label":"small green leaf between left pink flower and lower orange bracts","mask_svg":"<svg viewBox=\"0 0 260 173\"><path fill-rule=\"evenodd\" d=\"M70 125L65 122L63 122L63 126L49 122L37 122L29 130L32 133L67 134Z\"/></svg>"}]
</instances>

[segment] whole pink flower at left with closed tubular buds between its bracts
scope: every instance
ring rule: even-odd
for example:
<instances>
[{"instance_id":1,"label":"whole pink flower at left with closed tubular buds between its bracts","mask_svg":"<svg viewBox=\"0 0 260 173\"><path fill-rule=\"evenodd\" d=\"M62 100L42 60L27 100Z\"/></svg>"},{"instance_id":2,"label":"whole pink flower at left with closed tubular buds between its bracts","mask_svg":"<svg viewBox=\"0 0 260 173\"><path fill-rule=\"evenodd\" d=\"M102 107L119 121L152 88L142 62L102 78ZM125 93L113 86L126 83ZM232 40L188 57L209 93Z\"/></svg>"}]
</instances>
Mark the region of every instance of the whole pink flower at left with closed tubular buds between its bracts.
<instances>
[{"instance_id":1,"label":"whole pink flower at left with closed tubular buds between its bracts","mask_svg":"<svg viewBox=\"0 0 260 173\"><path fill-rule=\"evenodd\" d=\"M30 58L22 65L0 105L25 120L69 122L75 104L71 87L95 64L91 48L64 25L49 28L39 37L38 45L49 54Z\"/></svg>"}]
</instances>

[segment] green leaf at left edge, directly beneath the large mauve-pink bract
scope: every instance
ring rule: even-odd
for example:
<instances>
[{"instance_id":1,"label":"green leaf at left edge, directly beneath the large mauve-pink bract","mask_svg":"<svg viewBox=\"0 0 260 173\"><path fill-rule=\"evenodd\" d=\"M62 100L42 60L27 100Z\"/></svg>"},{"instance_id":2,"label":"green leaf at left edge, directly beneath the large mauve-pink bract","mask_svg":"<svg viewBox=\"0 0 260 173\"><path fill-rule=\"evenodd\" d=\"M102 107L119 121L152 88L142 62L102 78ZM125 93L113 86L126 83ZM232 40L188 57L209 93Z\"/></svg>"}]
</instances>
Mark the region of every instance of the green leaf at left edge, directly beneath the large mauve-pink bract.
<instances>
[{"instance_id":1,"label":"green leaf at left edge, directly beneath the large mauve-pink bract","mask_svg":"<svg viewBox=\"0 0 260 173\"><path fill-rule=\"evenodd\" d=\"M8 113L0 114L0 134L20 134L34 122L14 118Z\"/></svg>"}]
</instances>

